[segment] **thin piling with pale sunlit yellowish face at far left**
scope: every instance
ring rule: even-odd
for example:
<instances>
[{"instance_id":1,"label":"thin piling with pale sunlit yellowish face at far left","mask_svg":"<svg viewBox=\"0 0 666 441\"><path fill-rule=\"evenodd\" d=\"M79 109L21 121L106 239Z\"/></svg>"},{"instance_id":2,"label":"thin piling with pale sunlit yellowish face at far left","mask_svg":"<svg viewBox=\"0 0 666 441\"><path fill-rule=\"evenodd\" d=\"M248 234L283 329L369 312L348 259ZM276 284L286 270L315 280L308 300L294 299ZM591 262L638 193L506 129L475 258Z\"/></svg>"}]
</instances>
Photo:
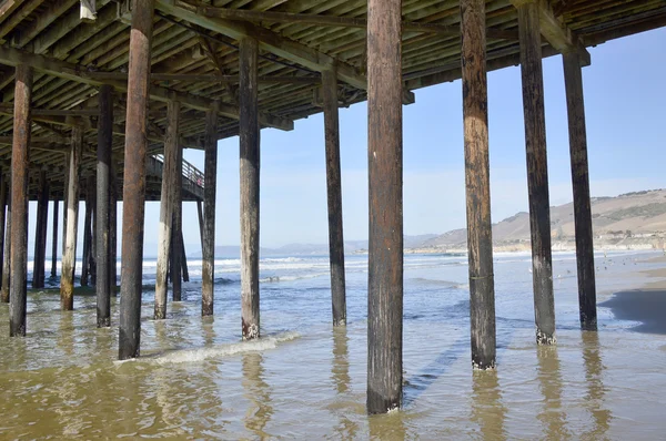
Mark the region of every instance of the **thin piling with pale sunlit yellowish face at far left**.
<instances>
[{"instance_id":1,"label":"thin piling with pale sunlit yellowish face at far left","mask_svg":"<svg viewBox=\"0 0 666 441\"><path fill-rule=\"evenodd\" d=\"M72 129L72 144L69 154L67 180L67 216L64 218L65 234L63 235L62 269L60 274L60 307L63 310L74 308L74 264L77 256L77 229L79 224L79 167L83 130Z\"/></svg>"}]
</instances>

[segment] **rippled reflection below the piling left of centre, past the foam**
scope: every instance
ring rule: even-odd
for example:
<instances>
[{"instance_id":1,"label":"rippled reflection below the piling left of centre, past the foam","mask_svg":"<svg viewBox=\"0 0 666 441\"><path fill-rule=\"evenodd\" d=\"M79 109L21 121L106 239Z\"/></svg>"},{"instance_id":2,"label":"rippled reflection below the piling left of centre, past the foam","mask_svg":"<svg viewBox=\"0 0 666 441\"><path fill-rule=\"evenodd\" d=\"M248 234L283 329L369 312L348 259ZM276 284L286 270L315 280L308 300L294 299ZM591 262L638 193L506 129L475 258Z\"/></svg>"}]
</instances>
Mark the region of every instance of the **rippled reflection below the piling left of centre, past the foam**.
<instances>
[{"instance_id":1,"label":"rippled reflection below the piling left of centre, past the foam","mask_svg":"<svg viewBox=\"0 0 666 441\"><path fill-rule=\"evenodd\" d=\"M273 414L271 388L264 381L263 356L260 352L243 355L243 389L251 404L245 411L245 429L260 439L271 438L264 428Z\"/></svg>"}]
</instances>

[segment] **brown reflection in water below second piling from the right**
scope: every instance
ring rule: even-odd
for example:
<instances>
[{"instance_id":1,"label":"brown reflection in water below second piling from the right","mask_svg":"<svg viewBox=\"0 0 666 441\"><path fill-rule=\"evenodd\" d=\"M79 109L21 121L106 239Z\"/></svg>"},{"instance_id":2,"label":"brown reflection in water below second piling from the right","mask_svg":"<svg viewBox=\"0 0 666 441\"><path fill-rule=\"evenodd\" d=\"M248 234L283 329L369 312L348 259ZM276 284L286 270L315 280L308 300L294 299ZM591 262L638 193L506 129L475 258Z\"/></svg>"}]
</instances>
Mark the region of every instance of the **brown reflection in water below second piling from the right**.
<instances>
[{"instance_id":1,"label":"brown reflection in water below second piling from the right","mask_svg":"<svg viewBox=\"0 0 666 441\"><path fill-rule=\"evenodd\" d=\"M544 397L544 407L536 417L547 440L568 440L572 433L566 428L566 412L562 407L562 371L556 346L536 348L538 359L538 383Z\"/></svg>"}]
</instances>

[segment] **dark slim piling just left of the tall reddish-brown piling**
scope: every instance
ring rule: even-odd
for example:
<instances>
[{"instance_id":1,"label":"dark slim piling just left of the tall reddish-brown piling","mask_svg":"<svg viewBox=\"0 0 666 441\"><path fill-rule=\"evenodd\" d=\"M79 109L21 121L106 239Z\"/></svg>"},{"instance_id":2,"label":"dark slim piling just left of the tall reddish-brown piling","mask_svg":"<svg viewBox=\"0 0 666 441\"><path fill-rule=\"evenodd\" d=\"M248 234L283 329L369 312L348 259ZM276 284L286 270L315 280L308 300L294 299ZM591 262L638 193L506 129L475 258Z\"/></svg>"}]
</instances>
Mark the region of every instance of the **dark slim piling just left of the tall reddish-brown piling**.
<instances>
[{"instance_id":1,"label":"dark slim piling just left of the tall reddish-brown piling","mask_svg":"<svg viewBox=\"0 0 666 441\"><path fill-rule=\"evenodd\" d=\"M99 94L97 164L97 320L98 328L111 326L110 287L110 180L111 148L113 142L113 89L102 85Z\"/></svg>"}]
</instances>

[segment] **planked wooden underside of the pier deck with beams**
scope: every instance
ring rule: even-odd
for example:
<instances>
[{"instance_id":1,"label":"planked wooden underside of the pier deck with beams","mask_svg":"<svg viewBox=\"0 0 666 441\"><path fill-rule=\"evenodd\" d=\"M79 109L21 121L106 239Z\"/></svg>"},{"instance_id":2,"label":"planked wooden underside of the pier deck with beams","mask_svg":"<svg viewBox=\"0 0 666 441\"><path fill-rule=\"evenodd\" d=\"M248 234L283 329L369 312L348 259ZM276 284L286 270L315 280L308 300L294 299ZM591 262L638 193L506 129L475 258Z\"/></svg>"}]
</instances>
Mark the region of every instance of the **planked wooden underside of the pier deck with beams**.
<instances>
[{"instance_id":1,"label":"planked wooden underside of the pier deck with beams","mask_svg":"<svg viewBox=\"0 0 666 441\"><path fill-rule=\"evenodd\" d=\"M663 0L539 1L543 55L666 25ZM79 0L0 0L0 161L11 158L14 66L34 69L31 198L44 167L51 196L62 195L71 126L82 124L82 174L95 167L101 84L114 86L113 156L122 186L122 148L131 7L97 0L97 17L82 21ZM363 0L155 0L151 54L149 153L161 153L167 102L181 102L183 147L203 147L204 112L218 101L218 137L239 133L239 40L259 41L259 121L293 129L293 121L322 111L321 72L336 66L341 105L366 99L366 1ZM486 1L487 69L519 63L516 8ZM410 91L461 76L457 2L404 0L403 102ZM160 182L148 173L147 199ZM153 176L151 178L151 176ZM201 198L185 191L184 199ZM122 194L122 189L119 191ZM83 196L83 195L82 195Z\"/></svg>"}]
</instances>

